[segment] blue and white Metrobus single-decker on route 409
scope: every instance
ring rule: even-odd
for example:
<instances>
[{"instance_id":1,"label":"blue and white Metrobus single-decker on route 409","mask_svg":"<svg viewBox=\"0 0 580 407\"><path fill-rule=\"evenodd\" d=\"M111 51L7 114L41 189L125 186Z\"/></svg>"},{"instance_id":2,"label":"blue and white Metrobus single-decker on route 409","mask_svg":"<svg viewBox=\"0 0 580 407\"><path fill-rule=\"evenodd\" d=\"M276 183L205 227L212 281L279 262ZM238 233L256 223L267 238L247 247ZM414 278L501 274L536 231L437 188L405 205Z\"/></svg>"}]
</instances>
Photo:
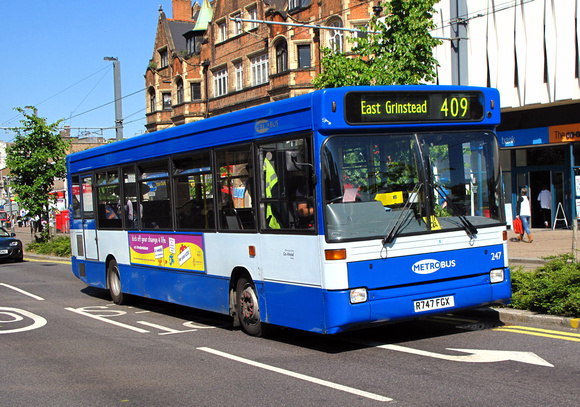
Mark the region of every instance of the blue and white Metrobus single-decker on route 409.
<instances>
[{"instance_id":1,"label":"blue and white Metrobus single-decker on route 409","mask_svg":"<svg viewBox=\"0 0 580 407\"><path fill-rule=\"evenodd\" d=\"M72 267L324 334L511 297L497 90L319 90L67 157Z\"/></svg>"}]
</instances>

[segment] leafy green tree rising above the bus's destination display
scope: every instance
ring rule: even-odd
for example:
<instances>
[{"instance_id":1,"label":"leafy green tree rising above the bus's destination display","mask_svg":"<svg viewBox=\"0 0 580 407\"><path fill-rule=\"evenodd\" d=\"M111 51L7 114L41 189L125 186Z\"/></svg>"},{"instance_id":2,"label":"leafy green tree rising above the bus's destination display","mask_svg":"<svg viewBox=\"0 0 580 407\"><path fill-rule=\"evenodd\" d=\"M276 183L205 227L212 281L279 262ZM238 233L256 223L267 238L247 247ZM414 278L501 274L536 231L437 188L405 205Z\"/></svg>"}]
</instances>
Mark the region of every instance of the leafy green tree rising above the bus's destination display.
<instances>
[{"instance_id":1,"label":"leafy green tree rising above the bus's destination display","mask_svg":"<svg viewBox=\"0 0 580 407\"><path fill-rule=\"evenodd\" d=\"M351 85L414 85L434 81L439 65L433 48L442 42L435 28L438 0L391 0L381 3L384 19L373 16L366 35L351 38L355 55L323 48L318 89Z\"/></svg>"}]
</instances>

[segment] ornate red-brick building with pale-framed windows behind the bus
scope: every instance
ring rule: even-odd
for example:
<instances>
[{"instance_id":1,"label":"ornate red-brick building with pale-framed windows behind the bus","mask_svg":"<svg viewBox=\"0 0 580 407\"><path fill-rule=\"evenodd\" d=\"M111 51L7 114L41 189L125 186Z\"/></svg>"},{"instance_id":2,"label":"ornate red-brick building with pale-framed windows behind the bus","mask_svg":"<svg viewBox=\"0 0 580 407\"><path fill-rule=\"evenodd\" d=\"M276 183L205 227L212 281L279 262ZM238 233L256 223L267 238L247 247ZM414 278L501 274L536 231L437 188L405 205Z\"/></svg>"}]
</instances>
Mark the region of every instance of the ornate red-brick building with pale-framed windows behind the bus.
<instances>
[{"instance_id":1,"label":"ornate red-brick building with pale-framed windows behind the bus","mask_svg":"<svg viewBox=\"0 0 580 407\"><path fill-rule=\"evenodd\" d=\"M159 9L145 74L148 132L312 91L321 47L348 49L345 38L353 35L315 26L356 29L368 23L376 5L371 0L191 3L173 0L171 19Z\"/></svg>"}]
</instances>

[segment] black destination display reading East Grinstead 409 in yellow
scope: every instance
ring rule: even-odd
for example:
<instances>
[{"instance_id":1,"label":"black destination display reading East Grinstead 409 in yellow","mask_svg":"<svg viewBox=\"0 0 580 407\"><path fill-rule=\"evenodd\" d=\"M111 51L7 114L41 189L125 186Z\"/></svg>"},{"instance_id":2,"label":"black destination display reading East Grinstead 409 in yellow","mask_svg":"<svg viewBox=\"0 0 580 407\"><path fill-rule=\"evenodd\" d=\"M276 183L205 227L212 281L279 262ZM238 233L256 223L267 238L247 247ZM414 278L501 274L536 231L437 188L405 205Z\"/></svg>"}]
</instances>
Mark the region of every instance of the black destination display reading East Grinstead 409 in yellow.
<instances>
[{"instance_id":1,"label":"black destination display reading East Grinstead 409 in yellow","mask_svg":"<svg viewBox=\"0 0 580 407\"><path fill-rule=\"evenodd\" d=\"M349 124L483 120L481 92L349 92L344 115Z\"/></svg>"}]
</instances>

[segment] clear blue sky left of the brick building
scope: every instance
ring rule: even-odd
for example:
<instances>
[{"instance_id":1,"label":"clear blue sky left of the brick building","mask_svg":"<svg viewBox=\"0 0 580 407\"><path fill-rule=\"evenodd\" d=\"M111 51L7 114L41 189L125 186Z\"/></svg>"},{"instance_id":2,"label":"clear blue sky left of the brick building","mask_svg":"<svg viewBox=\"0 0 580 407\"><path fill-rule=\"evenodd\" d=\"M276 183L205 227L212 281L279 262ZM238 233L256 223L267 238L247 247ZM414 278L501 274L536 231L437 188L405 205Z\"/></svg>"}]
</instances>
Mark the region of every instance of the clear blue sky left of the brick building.
<instances>
[{"instance_id":1,"label":"clear blue sky left of the brick building","mask_svg":"<svg viewBox=\"0 0 580 407\"><path fill-rule=\"evenodd\" d=\"M14 139L6 128L20 125L14 108L25 106L35 106L49 124L64 119L60 126L69 125L72 136L115 139L113 63L104 57L120 62L124 137L145 131L144 75L159 6L171 18L171 0L0 4L0 140Z\"/></svg>"}]
</instances>

